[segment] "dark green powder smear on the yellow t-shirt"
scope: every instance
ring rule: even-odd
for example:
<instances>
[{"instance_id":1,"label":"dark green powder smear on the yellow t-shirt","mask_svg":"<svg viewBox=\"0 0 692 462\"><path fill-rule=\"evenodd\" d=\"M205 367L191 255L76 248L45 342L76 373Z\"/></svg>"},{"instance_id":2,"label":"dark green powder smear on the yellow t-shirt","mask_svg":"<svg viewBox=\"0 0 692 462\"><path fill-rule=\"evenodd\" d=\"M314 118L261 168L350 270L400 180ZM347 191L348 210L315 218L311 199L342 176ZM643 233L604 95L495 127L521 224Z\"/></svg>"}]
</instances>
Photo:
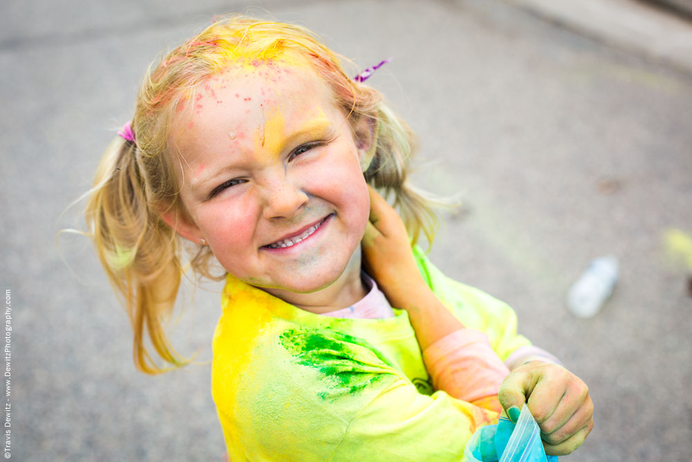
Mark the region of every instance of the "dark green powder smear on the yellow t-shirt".
<instances>
[{"instance_id":1,"label":"dark green powder smear on the yellow t-shirt","mask_svg":"<svg viewBox=\"0 0 692 462\"><path fill-rule=\"evenodd\" d=\"M279 341L298 364L316 369L327 380L328 389L318 393L322 400L358 393L385 376L366 369L361 348L370 350L384 364L392 365L366 341L334 330L325 334L291 329L283 332Z\"/></svg>"}]
</instances>

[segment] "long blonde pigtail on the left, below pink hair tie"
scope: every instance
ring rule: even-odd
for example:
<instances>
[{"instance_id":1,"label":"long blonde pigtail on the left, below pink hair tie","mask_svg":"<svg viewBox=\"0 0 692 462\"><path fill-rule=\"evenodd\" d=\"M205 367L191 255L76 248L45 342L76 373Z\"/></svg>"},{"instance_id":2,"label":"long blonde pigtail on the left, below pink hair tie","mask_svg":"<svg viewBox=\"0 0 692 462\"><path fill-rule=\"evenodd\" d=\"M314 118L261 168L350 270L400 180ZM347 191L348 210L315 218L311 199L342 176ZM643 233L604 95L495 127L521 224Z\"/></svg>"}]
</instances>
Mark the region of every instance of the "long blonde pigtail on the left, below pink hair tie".
<instances>
[{"instance_id":1,"label":"long blonde pigtail on the left, below pink hair tie","mask_svg":"<svg viewBox=\"0 0 692 462\"><path fill-rule=\"evenodd\" d=\"M114 139L98 166L86 204L86 223L111 285L134 331L134 362L140 371L161 373L147 353L148 335L168 364L181 359L167 340L162 321L170 317L181 278L177 241L147 202L135 143Z\"/></svg>"}]
</instances>

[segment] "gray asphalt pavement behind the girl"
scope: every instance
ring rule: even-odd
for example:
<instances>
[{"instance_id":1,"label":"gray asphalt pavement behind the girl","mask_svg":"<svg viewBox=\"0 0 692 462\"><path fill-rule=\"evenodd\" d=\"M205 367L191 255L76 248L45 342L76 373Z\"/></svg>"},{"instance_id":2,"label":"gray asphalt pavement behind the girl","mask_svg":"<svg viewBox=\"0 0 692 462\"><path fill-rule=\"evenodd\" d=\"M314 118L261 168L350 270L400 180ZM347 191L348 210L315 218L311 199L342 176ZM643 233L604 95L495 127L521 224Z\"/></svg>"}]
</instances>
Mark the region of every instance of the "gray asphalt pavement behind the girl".
<instances>
[{"instance_id":1,"label":"gray asphalt pavement behind the girl","mask_svg":"<svg viewBox=\"0 0 692 462\"><path fill-rule=\"evenodd\" d=\"M69 206L149 62L225 12L304 24L363 68L392 57L368 82L418 135L418 184L464 202L432 260L507 301L590 386L594 430L561 460L690 460L692 269L665 238L692 236L692 73L494 0L3 2L11 459L224 459L208 362L219 285L185 284L170 327L198 364L149 377L89 240L56 235L84 229L84 202ZM567 289L607 254L614 294L576 319Z\"/></svg>"}]
</instances>

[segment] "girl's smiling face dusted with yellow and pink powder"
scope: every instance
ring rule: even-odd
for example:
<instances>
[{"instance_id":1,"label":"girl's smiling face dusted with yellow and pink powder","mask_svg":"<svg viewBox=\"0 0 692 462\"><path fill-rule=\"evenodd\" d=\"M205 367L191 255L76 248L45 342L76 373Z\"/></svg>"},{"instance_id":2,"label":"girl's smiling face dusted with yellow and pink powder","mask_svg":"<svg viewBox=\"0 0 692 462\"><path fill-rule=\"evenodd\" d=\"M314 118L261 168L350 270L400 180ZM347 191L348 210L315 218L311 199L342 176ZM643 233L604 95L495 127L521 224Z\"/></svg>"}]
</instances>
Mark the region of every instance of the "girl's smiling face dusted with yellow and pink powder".
<instances>
[{"instance_id":1,"label":"girl's smiling face dusted with yellow and pink powder","mask_svg":"<svg viewBox=\"0 0 692 462\"><path fill-rule=\"evenodd\" d=\"M257 287L315 292L347 267L359 274L367 143L314 71L227 69L188 104L171 139L192 220L177 226L181 235L205 239L230 274Z\"/></svg>"}]
</instances>

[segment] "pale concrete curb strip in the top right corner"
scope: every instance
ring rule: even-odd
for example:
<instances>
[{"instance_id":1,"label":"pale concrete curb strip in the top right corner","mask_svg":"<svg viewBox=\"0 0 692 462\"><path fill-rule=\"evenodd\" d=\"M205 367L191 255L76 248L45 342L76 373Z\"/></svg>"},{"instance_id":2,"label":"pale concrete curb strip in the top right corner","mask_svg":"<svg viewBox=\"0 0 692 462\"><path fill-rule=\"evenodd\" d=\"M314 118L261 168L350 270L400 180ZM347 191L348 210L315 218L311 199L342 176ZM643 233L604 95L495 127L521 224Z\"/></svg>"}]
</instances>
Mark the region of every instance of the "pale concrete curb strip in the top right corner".
<instances>
[{"instance_id":1,"label":"pale concrete curb strip in the top right corner","mask_svg":"<svg viewBox=\"0 0 692 462\"><path fill-rule=\"evenodd\" d=\"M504 0L600 42L692 73L692 21L635 0Z\"/></svg>"}]
</instances>

